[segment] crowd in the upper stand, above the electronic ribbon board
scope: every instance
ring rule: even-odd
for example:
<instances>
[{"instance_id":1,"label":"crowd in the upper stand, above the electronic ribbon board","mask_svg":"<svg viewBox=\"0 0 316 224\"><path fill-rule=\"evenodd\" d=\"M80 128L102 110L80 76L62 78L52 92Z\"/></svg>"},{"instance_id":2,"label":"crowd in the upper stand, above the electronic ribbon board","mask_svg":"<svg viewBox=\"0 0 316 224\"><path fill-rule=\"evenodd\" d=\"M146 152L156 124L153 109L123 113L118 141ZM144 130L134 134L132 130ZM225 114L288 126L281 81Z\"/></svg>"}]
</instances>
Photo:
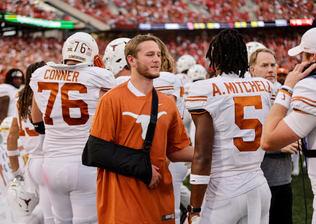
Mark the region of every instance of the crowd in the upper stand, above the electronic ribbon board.
<instances>
[{"instance_id":1,"label":"crowd in the upper stand, above the electronic ribbon board","mask_svg":"<svg viewBox=\"0 0 316 224\"><path fill-rule=\"evenodd\" d=\"M139 24L139 23L186 23L186 22L235 22L251 21L247 11L242 12L244 0L210 1L193 0L192 9L189 3L182 0L113 0L88 1L88 0L65 0L71 6L82 12L95 17L107 24ZM276 19L312 18L316 17L313 1L262 1L254 3L255 14L260 21L274 21ZM118 11L113 15L109 10L112 6ZM192 5L191 5L192 6ZM116 7L116 9L115 9ZM198 12L202 7L207 13ZM56 13L45 11L29 0L4 0L0 5L3 12L26 15L34 18L56 20ZM65 16L63 20L68 20Z\"/></svg>"}]
</instances>

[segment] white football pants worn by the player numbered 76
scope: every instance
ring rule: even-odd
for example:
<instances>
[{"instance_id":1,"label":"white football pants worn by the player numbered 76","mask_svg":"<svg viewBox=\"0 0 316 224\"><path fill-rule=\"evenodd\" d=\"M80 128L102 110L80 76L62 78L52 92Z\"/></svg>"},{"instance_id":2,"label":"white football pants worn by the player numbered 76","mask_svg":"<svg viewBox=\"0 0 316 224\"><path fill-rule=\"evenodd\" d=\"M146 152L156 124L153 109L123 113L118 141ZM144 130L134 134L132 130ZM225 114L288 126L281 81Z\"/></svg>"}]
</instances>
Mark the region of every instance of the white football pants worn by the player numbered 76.
<instances>
[{"instance_id":1,"label":"white football pants worn by the player numbered 76","mask_svg":"<svg viewBox=\"0 0 316 224\"><path fill-rule=\"evenodd\" d=\"M97 168L66 158L45 158L43 165L55 224L96 224Z\"/></svg>"}]
</instances>

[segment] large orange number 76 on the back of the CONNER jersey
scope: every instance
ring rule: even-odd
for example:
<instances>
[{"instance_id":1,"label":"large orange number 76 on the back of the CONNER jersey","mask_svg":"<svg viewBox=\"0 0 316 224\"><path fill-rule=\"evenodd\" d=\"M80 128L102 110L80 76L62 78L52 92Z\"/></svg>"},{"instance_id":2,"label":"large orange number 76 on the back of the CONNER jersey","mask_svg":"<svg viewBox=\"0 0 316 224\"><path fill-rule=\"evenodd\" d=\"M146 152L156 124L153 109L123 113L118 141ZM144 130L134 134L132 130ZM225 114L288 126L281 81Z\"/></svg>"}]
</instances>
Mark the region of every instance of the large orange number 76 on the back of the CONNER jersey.
<instances>
[{"instance_id":1,"label":"large orange number 76 on the back of the CONNER jersey","mask_svg":"<svg viewBox=\"0 0 316 224\"><path fill-rule=\"evenodd\" d=\"M46 111L44 122L45 124L53 125L53 119L51 118L52 109L56 100L56 96L59 91L58 82L38 82L38 91L42 93L43 90L51 90ZM79 91L79 93L87 93L87 87L80 83L65 83L61 88L61 107L64 121L68 125L81 125L86 124L89 119L88 104L83 100L69 100L68 91ZM80 108L81 117L71 118L69 108Z\"/></svg>"}]
</instances>

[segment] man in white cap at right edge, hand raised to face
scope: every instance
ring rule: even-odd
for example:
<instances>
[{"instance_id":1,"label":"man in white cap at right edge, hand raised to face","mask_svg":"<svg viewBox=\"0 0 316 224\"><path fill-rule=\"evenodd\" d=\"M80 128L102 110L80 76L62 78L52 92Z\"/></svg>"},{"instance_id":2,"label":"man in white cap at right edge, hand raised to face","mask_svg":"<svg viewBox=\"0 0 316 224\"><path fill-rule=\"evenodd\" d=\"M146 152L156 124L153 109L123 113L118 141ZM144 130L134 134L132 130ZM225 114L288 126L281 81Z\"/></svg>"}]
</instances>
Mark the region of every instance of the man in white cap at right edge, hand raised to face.
<instances>
[{"instance_id":1,"label":"man in white cap at right edge, hand raised to face","mask_svg":"<svg viewBox=\"0 0 316 224\"><path fill-rule=\"evenodd\" d=\"M307 173L314 194L313 219L316 223L316 28L306 31L300 45L288 51L289 56L302 55L302 63L289 72L267 117L261 138L263 150L273 152L301 138ZM304 68L310 65L309 68ZM304 71L303 71L304 70ZM313 73L311 73L313 71ZM307 76L307 77L306 77ZM306 78L304 78L306 77ZM293 111L286 116L291 107Z\"/></svg>"}]
</instances>

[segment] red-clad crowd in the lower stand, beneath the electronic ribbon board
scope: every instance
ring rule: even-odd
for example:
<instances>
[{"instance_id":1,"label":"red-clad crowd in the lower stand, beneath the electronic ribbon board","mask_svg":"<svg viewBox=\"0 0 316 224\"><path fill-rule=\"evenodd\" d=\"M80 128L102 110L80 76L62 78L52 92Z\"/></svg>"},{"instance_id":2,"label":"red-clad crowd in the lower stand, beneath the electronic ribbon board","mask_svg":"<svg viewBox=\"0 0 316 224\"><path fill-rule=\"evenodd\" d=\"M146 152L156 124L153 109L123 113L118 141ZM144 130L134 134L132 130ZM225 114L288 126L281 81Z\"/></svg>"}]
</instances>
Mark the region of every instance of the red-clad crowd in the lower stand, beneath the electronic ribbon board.
<instances>
[{"instance_id":1,"label":"red-clad crowd in the lower stand, beneath the electronic ribbon board","mask_svg":"<svg viewBox=\"0 0 316 224\"><path fill-rule=\"evenodd\" d=\"M178 59L184 54L190 54L196 59L197 64L209 68L205 52L212 37L168 35L162 38L174 59ZM104 50L111 40L108 38L97 39L101 56L103 56ZM294 33L290 36L288 34L283 37L278 34L267 34L265 36L245 35L245 42L250 41L264 43L266 47L275 51L277 63L288 71L293 70L295 64L301 60L300 55L294 58L287 54L287 51L292 46L300 43L301 36L299 33ZM62 49L60 42L61 39L58 38L3 37L0 40L0 60L2 62L0 65L2 66L0 82L3 82L3 75L11 68L19 68L25 71L28 65L38 60L60 63L60 51Z\"/></svg>"}]
</instances>

